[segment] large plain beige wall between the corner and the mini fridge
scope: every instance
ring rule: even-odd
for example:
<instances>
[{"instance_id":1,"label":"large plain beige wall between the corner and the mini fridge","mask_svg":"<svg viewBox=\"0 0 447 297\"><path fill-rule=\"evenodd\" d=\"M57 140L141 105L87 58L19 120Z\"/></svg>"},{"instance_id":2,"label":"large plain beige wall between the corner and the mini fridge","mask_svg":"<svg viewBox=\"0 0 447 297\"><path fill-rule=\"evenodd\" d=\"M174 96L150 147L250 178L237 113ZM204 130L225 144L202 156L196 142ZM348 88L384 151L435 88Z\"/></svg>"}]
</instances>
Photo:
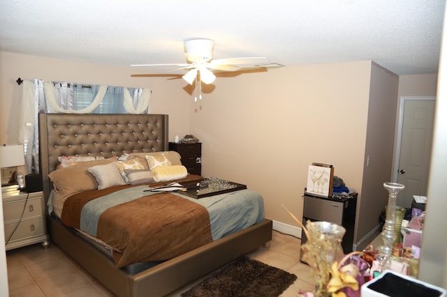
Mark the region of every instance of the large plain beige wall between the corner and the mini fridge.
<instances>
[{"instance_id":1,"label":"large plain beige wall between the corner and the mini fridge","mask_svg":"<svg viewBox=\"0 0 447 297\"><path fill-rule=\"evenodd\" d=\"M331 162L361 192L370 61L270 69L218 78L191 108L191 132L203 142L203 174L260 192L266 215L297 225L307 167Z\"/></svg>"}]
</instances>

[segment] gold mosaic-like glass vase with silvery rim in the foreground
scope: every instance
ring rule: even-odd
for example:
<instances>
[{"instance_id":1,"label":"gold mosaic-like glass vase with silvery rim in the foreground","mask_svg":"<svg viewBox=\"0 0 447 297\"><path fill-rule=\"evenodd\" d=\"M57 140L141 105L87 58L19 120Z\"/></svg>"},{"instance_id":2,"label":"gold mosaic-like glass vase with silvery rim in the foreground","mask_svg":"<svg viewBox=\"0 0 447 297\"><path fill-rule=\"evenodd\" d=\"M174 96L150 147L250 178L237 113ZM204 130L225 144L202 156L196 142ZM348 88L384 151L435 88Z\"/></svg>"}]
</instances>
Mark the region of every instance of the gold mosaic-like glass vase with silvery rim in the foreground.
<instances>
[{"instance_id":1,"label":"gold mosaic-like glass vase with silvery rim in the foreground","mask_svg":"<svg viewBox=\"0 0 447 297\"><path fill-rule=\"evenodd\" d=\"M343 259L342 238L344 227L331 222L307 221L307 242L302 245L302 259L314 269L316 297L328 296L330 266Z\"/></svg>"}]
</instances>

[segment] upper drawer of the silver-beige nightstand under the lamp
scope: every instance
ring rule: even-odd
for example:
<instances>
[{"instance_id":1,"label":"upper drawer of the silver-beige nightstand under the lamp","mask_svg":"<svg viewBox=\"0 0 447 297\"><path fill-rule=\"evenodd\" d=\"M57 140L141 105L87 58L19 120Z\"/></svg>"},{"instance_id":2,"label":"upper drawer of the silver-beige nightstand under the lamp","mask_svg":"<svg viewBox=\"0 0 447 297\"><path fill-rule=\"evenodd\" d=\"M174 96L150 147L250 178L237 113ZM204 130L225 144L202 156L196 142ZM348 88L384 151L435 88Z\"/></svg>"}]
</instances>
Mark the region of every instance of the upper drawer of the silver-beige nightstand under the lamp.
<instances>
[{"instance_id":1,"label":"upper drawer of the silver-beige nightstand under the lamp","mask_svg":"<svg viewBox=\"0 0 447 297\"><path fill-rule=\"evenodd\" d=\"M32 218L36 216L42 216L42 198L28 199L27 205L25 205L25 199L19 201L11 201L3 203L3 221L10 222L14 220L20 220L23 213L23 218ZM25 208L23 209L23 206Z\"/></svg>"}]
</instances>

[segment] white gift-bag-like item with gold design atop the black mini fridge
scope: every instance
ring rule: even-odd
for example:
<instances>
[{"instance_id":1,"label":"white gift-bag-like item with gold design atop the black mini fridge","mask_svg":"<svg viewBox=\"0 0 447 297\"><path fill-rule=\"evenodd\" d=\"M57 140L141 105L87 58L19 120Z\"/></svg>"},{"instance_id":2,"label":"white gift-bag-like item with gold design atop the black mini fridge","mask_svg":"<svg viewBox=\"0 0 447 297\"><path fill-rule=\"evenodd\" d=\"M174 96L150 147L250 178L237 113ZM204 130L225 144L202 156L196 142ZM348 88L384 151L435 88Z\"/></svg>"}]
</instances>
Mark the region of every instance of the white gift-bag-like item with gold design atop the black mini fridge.
<instances>
[{"instance_id":1,"label":"white gift-bag-like item with gold design atop the black mini fridge","mask_svg":"<svg viewBox=\"0 0 447 297\"><path fill-rule=\"evenodd\" d=\"M307 173L307 190L312 195L330 197L332 195L332 184L334 178L334 167L326 163L312 163Z\"/></svg>"}]
</instances>

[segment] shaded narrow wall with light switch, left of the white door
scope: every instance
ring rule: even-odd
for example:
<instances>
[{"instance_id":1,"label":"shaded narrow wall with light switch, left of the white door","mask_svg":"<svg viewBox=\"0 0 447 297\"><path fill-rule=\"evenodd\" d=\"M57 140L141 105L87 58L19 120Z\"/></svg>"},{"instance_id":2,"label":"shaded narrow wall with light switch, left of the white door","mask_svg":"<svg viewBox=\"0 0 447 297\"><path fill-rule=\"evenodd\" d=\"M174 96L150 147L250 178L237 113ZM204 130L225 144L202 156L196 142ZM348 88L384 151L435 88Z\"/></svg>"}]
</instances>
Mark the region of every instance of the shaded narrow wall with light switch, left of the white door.
<instances>
[{"instance_id":1,"label":"shaded narrow wall with light switch, left of the white door","mask_svg":"<svg viewBox=\"0 0 447 297\"><path fill-rule=\"evenodd\" d=\"M356 220L357 241L377 226L379 215L388 204L383 183L390 181L393 165L398 84L397 75L373 63L362 195Z\"/></svg>"}]
</instances>

